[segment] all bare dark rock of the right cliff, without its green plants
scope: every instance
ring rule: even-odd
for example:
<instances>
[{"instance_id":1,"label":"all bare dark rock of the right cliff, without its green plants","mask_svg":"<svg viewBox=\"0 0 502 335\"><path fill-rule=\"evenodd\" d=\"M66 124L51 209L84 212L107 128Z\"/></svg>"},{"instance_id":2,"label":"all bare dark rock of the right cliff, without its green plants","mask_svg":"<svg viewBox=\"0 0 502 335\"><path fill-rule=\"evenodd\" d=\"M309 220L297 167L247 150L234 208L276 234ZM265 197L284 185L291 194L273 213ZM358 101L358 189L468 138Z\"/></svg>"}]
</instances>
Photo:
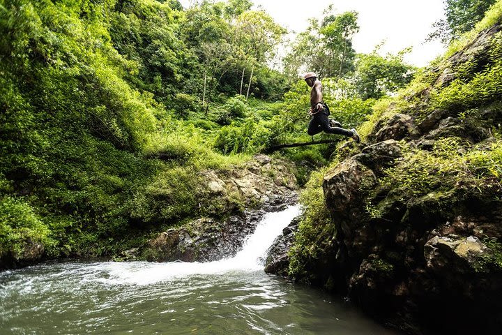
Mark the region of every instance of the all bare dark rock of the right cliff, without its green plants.
<instances>
[{"instance_id":1,"label":"all bare dark rock of the right cliff, without its green plants","mask_svg":"<svg viewBox=\"0 0 502 335\"><path fill-rule=\"evenodd\" d=\"M489 48L501 30L496 25L483 31L466 50L452 55L446 68L432 69L434 89L448 87L464 61L486 68ZM336 234L316 237L312 243L321 247L315 257L303 259L306 274L299 272L296 279L336 291L410 334L498 334L502 193L495 190L500 184L494 182L493 193L486 196L465 191L462 184L431 186L421 193L383 182L389 169L406 163L406 150L429 153L450 137L462 138L467 147L489 148L496 141L489 134L491 127L502 124L500 98L481 101L470 119L462 116L469 110L456 106L428 110L430 90L409 97L420 100L415 107L427 114L410 110L409 115L381 119L366 144L343 151L341 163L326 172L324 198ZM459 156L463 150L457 148ZM441 175L434 165L428 169ZM284 274L288 263L281 263L286 253L280 243L270 269Z\"/></svg>"}]
</instances>

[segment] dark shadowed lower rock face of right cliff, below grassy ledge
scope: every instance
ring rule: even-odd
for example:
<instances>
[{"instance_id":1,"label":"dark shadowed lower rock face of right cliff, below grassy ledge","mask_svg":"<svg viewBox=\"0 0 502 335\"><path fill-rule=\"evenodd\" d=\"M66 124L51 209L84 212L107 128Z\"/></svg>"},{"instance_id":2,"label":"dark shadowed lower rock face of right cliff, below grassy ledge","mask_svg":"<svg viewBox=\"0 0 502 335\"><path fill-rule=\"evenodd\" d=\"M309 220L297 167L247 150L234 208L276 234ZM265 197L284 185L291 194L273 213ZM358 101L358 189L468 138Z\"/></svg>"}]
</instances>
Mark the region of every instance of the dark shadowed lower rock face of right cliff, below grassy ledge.
<instances>
[{"instance_id":1,"label":"dark shadowed lower rock face of right cliff, below grassy ledge","mask_svg":"<svg viewBox=\"0 0 502 335\"><path fill-rule=\"evenodd\" d=\"M337 283L335 290L365 311L413 334L444 318L455 320L442 326L455 334L474 331L473 318L480 320L478 332L489 334L502 325L500 205L453 193L406 198L394 190L372 216L368 194L380 187L380 167L390 164L380 161L382 151L367 147L326 173L324 195L339 244L321 255L336 271L312 266L321 269L314 283ZM398 159L400 151L392 152Z\"/></svg>"}]
</instances>

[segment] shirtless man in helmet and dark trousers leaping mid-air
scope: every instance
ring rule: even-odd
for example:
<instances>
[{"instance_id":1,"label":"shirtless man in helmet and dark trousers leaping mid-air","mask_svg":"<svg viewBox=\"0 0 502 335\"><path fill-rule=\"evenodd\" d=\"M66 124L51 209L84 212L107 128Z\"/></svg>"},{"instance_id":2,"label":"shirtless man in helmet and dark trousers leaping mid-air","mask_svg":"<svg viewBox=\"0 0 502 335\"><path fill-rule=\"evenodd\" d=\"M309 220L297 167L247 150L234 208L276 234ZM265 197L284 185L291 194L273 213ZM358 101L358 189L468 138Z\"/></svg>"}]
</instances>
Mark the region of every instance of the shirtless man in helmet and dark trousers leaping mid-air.
<instances>
[{"instance_id":1,"label":"shirtless man in helmet and dark trousers leaping mid-air","mask_svg":"<svg viewBox=\"0 0 502 335\"><path fill-rule=\"evenodd\" d=\"M321 131L328 134L340 134L351 137L354 141L359 143L360 137L356 129L352 128L349 131L348 129L342 128L340 122L328 118L328 105L322 101L322 85L321 82L317 80L317 75L313 72L308 72L305 73L303 77L307 85L312 87L310 91L309 110L312 119L310 120L307 133L311 136L321 133Z\"/></svg>"}]
</instances>

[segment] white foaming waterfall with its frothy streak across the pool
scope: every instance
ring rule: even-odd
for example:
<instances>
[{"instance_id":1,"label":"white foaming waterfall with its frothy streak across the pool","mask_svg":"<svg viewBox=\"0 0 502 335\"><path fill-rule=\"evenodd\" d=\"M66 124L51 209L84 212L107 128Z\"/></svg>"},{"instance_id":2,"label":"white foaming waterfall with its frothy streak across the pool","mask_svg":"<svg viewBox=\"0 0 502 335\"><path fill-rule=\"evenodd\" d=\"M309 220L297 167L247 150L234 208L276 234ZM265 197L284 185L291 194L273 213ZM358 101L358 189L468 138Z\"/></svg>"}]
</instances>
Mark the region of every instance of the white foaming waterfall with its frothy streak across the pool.
<instances>
[{"instance_id":1,"label":"white foaming waterfall with its frothy streak across the pool","mask_svg":"<svg viewBox=\"0 0 502 335\"><path fill-rule=\"evenodd\" d=\"M300 214L298 205L284 211L268 213L257 225L254 234L245 241L243 250L234 258L215 262L108 262L99 265L100 271L107 270L109 278L100 278L102 283L150 285L162 281L196 274L222 274L229 271L258 271L263 269L263 258L275 238L281 234L291 220ZM91 265L92 267L92 265Z\"/></svg>"}]
</instances>

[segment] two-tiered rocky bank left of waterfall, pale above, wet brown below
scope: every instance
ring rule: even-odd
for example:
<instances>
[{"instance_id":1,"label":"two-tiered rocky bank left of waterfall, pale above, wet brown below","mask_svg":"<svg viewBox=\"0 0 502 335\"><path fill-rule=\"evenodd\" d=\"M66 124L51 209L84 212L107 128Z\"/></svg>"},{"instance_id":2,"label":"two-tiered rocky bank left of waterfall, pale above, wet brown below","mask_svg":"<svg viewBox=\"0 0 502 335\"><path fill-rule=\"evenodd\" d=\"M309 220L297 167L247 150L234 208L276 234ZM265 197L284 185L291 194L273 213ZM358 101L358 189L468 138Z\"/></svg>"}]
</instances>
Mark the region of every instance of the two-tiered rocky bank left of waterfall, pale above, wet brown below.
<instances>
[{"instance_id":1,"label":"two-tiered rocky bank left of waterfall, pale above, wet brown below","mask_svg":"<svg viewBox=\"0 0 502 335\"><path fill-rule=\"evenodd\" d=\"M223 220L199 218L161 232L137 255L156 262L208 262L234 256L266 212L296 202L296 178L287 166L284 161L257 155L239 169L206 172L204 179L214 202L224 202L230 214L238 199L248 210ZM130 257L125 254L123 258Z\"/></svg>"}]
</instances>

